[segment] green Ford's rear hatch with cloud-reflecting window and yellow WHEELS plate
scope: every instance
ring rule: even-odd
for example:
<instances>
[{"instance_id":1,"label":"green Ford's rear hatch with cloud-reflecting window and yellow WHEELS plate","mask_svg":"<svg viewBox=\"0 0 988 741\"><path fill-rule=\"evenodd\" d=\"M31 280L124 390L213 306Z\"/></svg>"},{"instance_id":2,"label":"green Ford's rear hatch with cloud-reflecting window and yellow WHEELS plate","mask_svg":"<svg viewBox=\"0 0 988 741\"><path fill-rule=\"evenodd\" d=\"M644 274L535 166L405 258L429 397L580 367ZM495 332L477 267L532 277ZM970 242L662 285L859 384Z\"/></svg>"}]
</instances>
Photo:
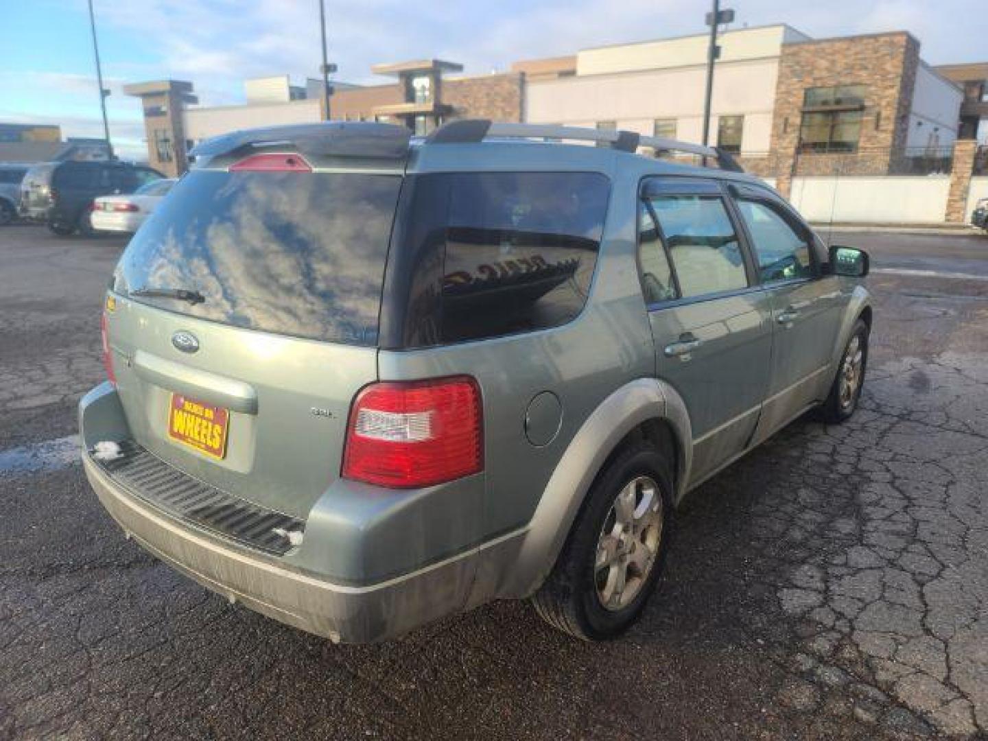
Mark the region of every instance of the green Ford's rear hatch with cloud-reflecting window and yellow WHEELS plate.
<instances>
[{"instance_id":1,"label":"green Ford's rear hatch with cloud-reflecting window and yellow WHEELS plate","mask_svg":"<svg viewBox=\"0 0 988 741\"><path fill-rule=\"evenodd\" d=\"M376 379L399 174L201 169L127 246L108 310L133 440L304 518Z\"/></svg>"}]
</instances>

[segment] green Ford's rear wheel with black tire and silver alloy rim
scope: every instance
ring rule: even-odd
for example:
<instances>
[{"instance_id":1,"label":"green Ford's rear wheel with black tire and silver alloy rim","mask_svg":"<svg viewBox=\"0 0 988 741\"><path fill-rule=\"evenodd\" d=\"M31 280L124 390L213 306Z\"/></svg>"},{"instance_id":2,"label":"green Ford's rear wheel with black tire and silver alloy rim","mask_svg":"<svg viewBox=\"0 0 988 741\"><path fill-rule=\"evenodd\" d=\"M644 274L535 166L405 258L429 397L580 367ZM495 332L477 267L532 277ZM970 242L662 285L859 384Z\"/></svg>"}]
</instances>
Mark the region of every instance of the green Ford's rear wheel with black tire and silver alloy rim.
<instances>
[{"instance_id":1,"label":"green Ford's rear wheel with black tire and silver alloy rim","mask_svg":"<svg viewBox=\"0 0 988 741\"><path fill-rule=\"evenodd\" d=\"M577 638L616 638L641 617L655 591L672 530L667 461L645 441L625 446L591 486L559 558L532 598L535 611Z\"/></svg>"}]
</instances>

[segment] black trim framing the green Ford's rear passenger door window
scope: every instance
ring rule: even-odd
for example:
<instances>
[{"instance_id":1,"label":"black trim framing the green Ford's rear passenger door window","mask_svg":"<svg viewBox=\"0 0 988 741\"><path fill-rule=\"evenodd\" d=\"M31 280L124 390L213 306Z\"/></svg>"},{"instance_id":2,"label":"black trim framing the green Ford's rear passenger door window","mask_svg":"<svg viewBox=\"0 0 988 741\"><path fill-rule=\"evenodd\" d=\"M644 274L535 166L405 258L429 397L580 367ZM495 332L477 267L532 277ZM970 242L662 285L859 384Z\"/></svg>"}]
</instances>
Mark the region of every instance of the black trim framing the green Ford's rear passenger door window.
<instances>
[{"instance_id":1,"label":"black trim framing the green Ford's rear passenger door window","mask_svg":"<svg viewBox=\"0 0 988 741\"><path fill-rule=\"evenodd\" d=\"M669 187L668 189L663 188L661 194L649 196L648 187L650 183L658 183L662 186ZM692 303L713 301L719 298L729 298L731 296L744 295L745 293L753 293L755 291L762 290L763 286L758 274L757 265L754 262L754 255L747 240L747 233L743 232L741 228L739 228L739 214L735 211L734 204L731 203L730 196L726 192L724 186L725 184L718 178L702 178L695 175L679 177L670 175L645 175L639 181L636 196L637 202L643 202L646 205L649 214L655 222L656 231L658 232L659 239L662 242L662 249L666 253L666 259L669 261L670 272L673 275L673 280L676 282L676 291L679 293L677 298L665 301L649 302L645 300L645 287L643 283L644 276L641 270L641 224L638 221L638 209L636 204L634 209L635 263L638 269L638 283L641 285L641 297L642 300L644 300L645 308L649 313L652 311L660 311L665 308L687 306ZM712 293L701 293L700 295L695 296L683 295L683 290L680 288L679 283L679 273L676 270L676 263L672 259L672 254L669 251L669 245L666 240L665 232L662 229L662 223L659 221L654 207L649 203L650 198L661 196L698 196L718 199L723 204L724 212L727 214L727 219L731 222L734 233L738 237L738 247L741 250L741 259L744 261L745 278L748 281L748 285L745 288L729 288L727 290L718 290ZM743 226L743 224L740 226Z\"/></svg>"}]
</instances>

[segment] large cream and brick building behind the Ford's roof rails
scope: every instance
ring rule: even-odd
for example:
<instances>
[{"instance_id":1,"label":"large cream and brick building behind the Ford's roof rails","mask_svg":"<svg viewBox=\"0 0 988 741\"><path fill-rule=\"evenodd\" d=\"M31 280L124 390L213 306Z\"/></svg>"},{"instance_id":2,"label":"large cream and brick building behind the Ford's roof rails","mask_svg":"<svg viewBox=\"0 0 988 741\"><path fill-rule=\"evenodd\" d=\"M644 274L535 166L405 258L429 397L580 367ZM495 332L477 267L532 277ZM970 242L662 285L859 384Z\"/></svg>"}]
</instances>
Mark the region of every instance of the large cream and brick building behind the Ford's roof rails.
<instances>
[{"instance_id":1,"label":"large cream and brick building behind the Ford's roof rails","mask_svg":"<svg viewBox=\"0 0 988 741\"><path fill-rule=\"evenodd\" d=\"M707 42L642 41L516 63L530 72L526 119L700 141ZM796 148L938 148L956 137L961 91L920 60L908 34L816 41L779 25L718 42L710 143L745 159Z\"/></svg>"}]
</instances>

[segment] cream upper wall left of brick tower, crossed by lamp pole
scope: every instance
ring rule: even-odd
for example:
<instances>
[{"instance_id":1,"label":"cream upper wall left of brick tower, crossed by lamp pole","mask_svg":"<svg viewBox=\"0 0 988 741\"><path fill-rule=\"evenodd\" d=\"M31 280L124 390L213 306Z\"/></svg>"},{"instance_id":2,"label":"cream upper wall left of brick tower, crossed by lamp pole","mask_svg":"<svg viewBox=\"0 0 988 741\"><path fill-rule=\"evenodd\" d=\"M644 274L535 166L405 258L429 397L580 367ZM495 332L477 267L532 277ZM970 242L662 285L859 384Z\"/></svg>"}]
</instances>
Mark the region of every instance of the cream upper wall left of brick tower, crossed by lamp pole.
<instances>
[{"instance_id":1,"label":"cream upper wall left of brick tower, crossed by lamp pole","mask_svg":"<svg viewBox=\"0 0 988 741\"><path fill-rule=\"evenodd\" d=\"M587 77L533 80L525 86L526 121L534 124L596 125L617 122L651 134L655 119L676 119L677 138L700 141L703 65ZM768 151L779 59L721 62L713 78L711 143L720 116L745 117L743 152Z\"/></svg>"}]
</instances>

